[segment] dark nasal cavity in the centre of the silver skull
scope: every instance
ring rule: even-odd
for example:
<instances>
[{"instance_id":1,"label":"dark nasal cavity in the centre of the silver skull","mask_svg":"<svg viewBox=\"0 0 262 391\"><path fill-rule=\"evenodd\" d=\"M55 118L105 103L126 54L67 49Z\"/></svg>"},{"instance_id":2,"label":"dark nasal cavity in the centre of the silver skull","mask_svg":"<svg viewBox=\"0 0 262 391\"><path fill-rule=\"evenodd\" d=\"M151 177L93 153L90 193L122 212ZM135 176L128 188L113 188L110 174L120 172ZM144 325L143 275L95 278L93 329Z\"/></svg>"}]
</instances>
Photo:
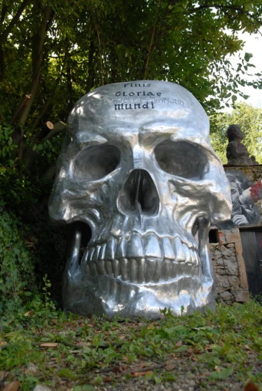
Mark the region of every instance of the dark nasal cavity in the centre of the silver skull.
<instances>
[{"instance_id":1,"label":"dark nasal cavity in the centre of the silver skull","mask_svg":"<svg viewBox=\"0 0 262 391\"><path fill-rule=\"evenodd\" d=\"M127 216L156 215L159 209L159 196L149 173L133 170L117 199L117 207Z\"/></svg>"}]
</instances>

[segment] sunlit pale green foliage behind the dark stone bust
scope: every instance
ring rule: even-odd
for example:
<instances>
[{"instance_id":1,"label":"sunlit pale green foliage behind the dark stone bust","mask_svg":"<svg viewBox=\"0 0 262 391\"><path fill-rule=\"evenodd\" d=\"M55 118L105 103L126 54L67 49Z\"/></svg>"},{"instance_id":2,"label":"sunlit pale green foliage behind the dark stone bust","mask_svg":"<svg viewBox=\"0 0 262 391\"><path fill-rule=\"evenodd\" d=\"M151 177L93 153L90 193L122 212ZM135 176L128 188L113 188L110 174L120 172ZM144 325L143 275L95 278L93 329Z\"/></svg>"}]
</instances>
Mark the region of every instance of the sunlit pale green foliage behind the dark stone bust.
<instances>
[{"instance_id":1,"label":"sunlit pale green foliage behind the dark stone bust","mask_svg":"<svg viewBox=\"0 0 262 391\"><path fill-rule=\"evenodd\" d=\"M211 144L224 164L228 143L226 129L229 125L238 125L244 135L242 143L249 155L262 163L262 109L256 109L246 103L239 103L231 113L216 113L210 118Z\"/></svg>"}]
</instances>

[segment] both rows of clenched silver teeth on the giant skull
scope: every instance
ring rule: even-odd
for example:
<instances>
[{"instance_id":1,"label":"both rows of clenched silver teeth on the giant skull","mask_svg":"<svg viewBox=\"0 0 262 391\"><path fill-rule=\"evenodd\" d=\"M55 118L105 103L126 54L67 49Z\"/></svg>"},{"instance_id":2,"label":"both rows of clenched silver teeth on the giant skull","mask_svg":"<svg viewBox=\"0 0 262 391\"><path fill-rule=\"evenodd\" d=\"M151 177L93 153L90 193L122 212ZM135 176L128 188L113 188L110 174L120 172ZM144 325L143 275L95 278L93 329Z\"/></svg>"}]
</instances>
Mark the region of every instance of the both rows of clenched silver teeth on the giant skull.
<instances>
[{"instance_id":1,"label":"both rows of clenched silver teeth on the giant skull","mask_svg":"<svg viewBox=\"0 0 262 391\"><path fill-rule=\"evenodd\" d=\"M143 238L132 233L129 239L111 237L102 246L87 249L81 269L92 276L109 275L141 284L167 281L187 271L192 274L192 266L197 265L195 245L189 247L178 236L172 239L149 234Z\"/></svg>"}]
</instances>

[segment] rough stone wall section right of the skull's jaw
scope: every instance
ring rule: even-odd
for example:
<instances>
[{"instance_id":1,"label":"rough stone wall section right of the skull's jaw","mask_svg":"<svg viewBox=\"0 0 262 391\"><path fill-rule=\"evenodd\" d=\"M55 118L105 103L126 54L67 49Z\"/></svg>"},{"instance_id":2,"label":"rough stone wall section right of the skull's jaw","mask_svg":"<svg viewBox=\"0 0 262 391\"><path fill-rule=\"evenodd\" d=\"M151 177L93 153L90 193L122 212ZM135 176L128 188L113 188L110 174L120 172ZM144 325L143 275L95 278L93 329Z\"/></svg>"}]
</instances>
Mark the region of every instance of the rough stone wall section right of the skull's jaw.
<instances>
[{"instance_id":1,"label":"rough stone wall section right of the skull's jaw","mask_svg":"<svg viewBox=\"0 0 262 391\"><path fill-rule=\"evenodd\" d=\"M218 230L217 237L217 243L210 243L215 298L226 304L247 301L249 292L239 230Z\"/></svg>"}]
</instances>

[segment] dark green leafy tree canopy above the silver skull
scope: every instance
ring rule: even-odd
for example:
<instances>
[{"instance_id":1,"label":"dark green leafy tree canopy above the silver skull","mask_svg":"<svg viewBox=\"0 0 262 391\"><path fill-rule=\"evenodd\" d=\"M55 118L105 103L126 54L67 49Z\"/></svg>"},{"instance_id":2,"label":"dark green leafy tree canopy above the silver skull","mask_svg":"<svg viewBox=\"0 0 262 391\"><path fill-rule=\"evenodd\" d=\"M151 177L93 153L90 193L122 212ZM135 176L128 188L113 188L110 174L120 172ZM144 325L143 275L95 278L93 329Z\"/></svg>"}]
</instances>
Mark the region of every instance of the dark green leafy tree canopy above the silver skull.
<instances>
[{"instance_id":1,"label":"dark green leafy tree canopy above the silver skull","mask_svg":"<svg viewBox=\"0 0 262 391\"><path fill-rule=\"evenodd\" d=\"M66 119L76 100L102 84L160 79L217 108L244 84L250 54L232 71L228 54L262 24L260 1L2 0L1 115L34 130ZM258 75L258 78L261 75ZM259 80L254 85L261 87ZM6 104L5 104L6 102Z\"/></svg>"}]
</instances>

